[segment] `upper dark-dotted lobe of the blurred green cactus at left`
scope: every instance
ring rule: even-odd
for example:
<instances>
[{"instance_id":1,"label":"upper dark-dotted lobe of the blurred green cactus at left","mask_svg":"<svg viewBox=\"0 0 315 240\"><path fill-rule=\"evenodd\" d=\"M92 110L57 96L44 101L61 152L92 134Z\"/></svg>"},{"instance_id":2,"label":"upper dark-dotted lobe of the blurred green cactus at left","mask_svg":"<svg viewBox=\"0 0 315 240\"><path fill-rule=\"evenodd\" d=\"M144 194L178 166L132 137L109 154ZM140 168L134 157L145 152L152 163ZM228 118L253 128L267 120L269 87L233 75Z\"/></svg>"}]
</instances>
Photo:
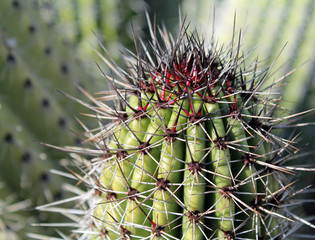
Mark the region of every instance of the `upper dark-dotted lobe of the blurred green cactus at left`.
<instances>
[{"instance_id":1,"label":"upper dark-dotted lobe of the blurred green cactus at left","mask_svg":"<svg viewBox=\"0 0 315 240\"><path fill-rule=\"evenodd\" d=\"M74 84L89 76L75 59L74 48L48 26L40 11L35 1L0 3L0 101L19 116L35 139L73 144L76 137L64 136L66 128L75 129L68 111L82 108L68 104L56 89L78 96Z\"/></svg>"}]
</instances>

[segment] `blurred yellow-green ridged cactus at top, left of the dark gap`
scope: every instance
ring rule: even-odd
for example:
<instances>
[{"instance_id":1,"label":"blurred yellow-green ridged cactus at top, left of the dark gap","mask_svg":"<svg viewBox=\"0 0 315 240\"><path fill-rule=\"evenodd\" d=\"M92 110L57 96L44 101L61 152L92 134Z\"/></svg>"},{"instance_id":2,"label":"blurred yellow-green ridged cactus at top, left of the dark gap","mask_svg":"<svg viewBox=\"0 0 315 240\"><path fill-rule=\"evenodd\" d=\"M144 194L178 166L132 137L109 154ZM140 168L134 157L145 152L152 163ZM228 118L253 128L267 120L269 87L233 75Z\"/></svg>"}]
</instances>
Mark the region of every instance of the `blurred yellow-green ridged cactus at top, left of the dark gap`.
<instances>
[{"instance_id":1,"label":"blurred yellow-green ridged cactus at top, left of the dark gap","mask_svg":"<svg viewBox=\"0 0 315 240\"><path fill-rule=\"evenodd\" d=\"M59 23L58 32L76 44L82 58L96 57L91 48L99 47L96 35L118 59L120 45L133 47L130 21L138 34L143 27L143 0L46 0L41 5L48 12L49 21Z\"/></svg>"}]
</instances>

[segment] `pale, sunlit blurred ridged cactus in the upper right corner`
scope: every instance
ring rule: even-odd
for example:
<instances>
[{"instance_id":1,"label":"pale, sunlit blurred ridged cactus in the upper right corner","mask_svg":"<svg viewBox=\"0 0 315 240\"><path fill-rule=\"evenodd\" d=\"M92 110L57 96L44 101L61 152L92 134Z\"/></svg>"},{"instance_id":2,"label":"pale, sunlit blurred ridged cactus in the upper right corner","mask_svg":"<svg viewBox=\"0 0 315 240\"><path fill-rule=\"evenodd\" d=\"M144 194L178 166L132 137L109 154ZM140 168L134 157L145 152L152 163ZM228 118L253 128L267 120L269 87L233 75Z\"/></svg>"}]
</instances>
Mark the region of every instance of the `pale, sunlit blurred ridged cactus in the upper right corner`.
<instances>
[{"instance_id":1,"label":"pale, sunlit blurred ridged cactus in the upper right corner","mask_svg":"<svg viewBox=\"0 0 315 240\"><path fill-rule=\"evenodd\" d=\"M194 8L200 13L198 15L191 10L193 8L191 5L190 1L186 1L184 5L188 17L198 16L194 25L206 26L209 8L213 3L198 1L194 4ZM315 2L312 0L255 2L224 0L217 2L215 6L215 32L219 41L224 43L230 40L229 30L233 23L233 16L236 14L237 28L246 32L242 42L243 47L254 52L249 56L248 61L258 55L266 65L269 65L282 51L274 66L274 69L277 69L274 73L275 78L280 78L292 69L305 65L303 71L296 71L288 77L285 86L281 88L286 99L281 105L294 111L306 110L303 107L302 109L295 107L296 103L307 96L303 94L305 90L314 88L312 83L314 83Z\"/></svg>"}]
</instances>

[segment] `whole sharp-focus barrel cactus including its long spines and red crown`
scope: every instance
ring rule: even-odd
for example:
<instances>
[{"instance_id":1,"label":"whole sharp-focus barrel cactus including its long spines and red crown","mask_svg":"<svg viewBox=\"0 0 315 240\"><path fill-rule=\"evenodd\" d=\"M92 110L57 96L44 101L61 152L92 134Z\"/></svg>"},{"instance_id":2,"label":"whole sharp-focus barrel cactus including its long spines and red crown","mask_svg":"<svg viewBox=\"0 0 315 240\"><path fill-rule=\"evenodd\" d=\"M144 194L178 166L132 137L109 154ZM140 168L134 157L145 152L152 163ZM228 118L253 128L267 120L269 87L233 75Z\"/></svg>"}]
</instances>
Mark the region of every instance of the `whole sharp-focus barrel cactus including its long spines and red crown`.
<instances>
[{"instance_id":1,"label":"whole sharp-focus barrel cactus including its long spines and red crown","mask_svg":"<svg viewBox=\"0 0 315 240\"><path fill-rule=\"evenodd\" d=\"M77 221L78 239L285 239L314 228L291 209L296 172L311 169L290 164L297 135L279 132L303 114L279 108L285 77L264 85L272 66L246 66L235 34L219 48L185 29L174 39L151 26L152 49L140 41L127 70L99 53L111 90L77 100L99 127L80 121L90 146L63 148L87 192L68 187L78 196L39 209L77 201L55 211Z\"/></svg>"}]
</instances>

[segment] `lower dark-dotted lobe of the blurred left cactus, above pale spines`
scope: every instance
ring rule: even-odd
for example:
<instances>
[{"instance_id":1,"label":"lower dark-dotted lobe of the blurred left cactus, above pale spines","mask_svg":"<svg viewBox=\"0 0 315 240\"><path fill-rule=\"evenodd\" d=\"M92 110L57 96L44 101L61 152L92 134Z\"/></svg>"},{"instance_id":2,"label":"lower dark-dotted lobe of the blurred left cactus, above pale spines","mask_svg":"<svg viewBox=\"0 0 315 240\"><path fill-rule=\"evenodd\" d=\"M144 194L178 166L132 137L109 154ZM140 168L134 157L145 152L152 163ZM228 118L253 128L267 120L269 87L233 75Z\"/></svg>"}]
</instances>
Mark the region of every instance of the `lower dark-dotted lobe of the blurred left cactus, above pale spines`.
<instances>
[{"instance_id":1,"label":"lower dark-dotted lobe of the blurred left cactus, above pale spines","mask_svg":"<svg viewBox=\"0 0 315 240\"><path fill-rule=\"evenodd\" d=\"M53 168L53 163L48 161L43 147L3 103L0 104L0 125L0 174L7 186L18 190L20 198L35 195L34 205L52 201L61 190L60 179L48 172L47 167Z\"/></svg>"}]
</instances>

